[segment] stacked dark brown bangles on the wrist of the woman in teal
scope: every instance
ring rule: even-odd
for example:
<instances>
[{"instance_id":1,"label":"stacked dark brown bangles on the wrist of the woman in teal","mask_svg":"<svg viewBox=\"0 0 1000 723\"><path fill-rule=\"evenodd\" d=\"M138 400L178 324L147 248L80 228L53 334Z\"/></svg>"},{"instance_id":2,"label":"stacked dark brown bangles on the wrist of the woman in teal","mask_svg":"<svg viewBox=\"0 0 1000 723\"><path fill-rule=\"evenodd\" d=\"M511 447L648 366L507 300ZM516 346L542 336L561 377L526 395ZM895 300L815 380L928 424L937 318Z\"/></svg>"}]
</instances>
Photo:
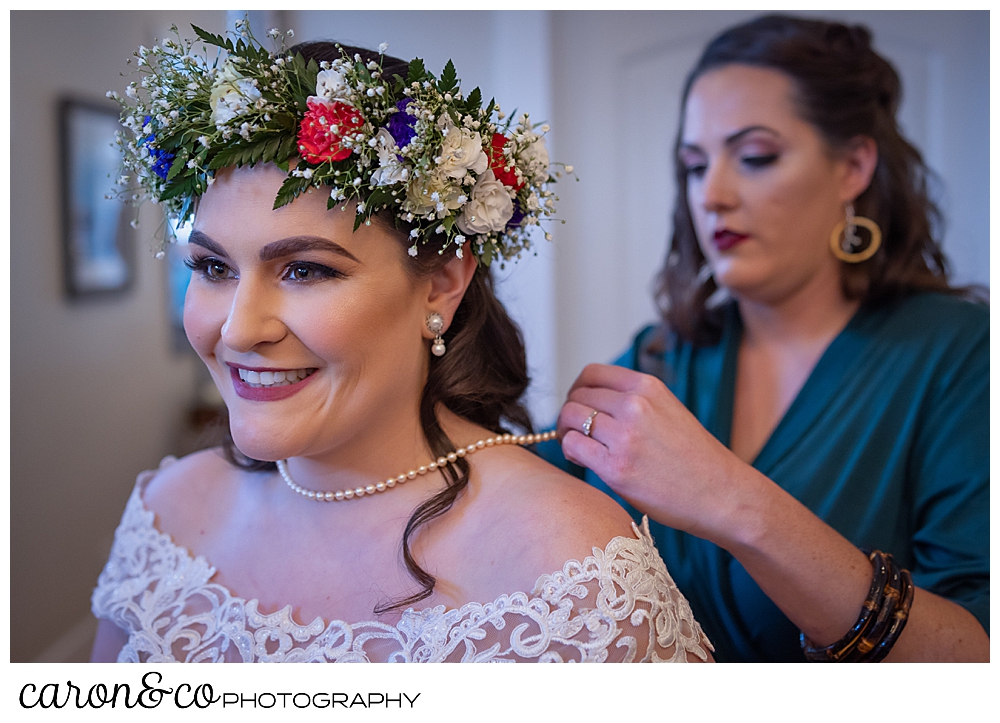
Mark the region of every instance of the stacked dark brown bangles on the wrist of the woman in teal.
<instances>
[{"instance_id":1,"label":"stacked dark brown bangles on the wrist of the woman in teal","mask_svg":"<svg viewBox=\"0 0 1000 723\"><path fill-rule=\"evenodd\" d=\"M907 570L896 566L892 555L874 550L872 584L861 606L858 621L833 645L817 648L805 633L799 636L806 660L813 663L877 663L896 640L910 614L913 602L913 579Z\"/></svg>"}]
</instances>

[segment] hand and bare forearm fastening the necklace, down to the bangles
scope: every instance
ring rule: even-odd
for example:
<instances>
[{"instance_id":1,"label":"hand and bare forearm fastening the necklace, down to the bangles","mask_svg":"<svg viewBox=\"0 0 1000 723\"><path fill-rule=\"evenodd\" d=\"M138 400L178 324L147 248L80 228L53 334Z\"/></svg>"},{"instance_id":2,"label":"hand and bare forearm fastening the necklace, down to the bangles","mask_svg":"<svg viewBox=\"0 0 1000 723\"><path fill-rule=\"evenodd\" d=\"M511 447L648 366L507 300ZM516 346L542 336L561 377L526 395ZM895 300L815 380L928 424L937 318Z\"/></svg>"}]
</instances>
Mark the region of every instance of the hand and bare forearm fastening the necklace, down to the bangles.
<instances>
[{"instance_id":1,"label":"hand and bare forearm fastening the necklace, down to the bangles","mask_svg":"<svg viewBox=\"0 0 1000 723\"><path fill-rule=\"evenodd\" d=\"M583 423L594 410L588 438ZM857 619L867 557L736 457L656 377L591 364L558 430L567 459L657 522L728 550L812 640L832 643Z\"/></svg>"}]
</instances>

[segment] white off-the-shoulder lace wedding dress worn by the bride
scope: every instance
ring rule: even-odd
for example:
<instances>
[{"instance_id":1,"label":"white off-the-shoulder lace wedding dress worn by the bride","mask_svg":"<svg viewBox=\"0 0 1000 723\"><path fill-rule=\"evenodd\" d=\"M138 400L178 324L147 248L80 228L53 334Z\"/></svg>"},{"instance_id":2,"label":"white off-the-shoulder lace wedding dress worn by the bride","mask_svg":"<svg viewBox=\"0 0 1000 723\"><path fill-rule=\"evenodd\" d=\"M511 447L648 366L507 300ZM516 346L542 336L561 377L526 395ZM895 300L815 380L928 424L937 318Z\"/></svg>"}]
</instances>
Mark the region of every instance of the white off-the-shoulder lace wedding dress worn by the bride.
<instances>
[{"instance_id":1,"label":"white off-the-shoulder lace wedding dress worn by the bride","mask_svg":"<svg viewBox=\"0 0 1000 723\"><path fill-rule=\"evenodd\" d=\"M514 592L458 609L407 610L395 625L258 609L212 582L153 524L139 476L91 607L128 632L118 662L683 662L712 644L667 573L646 521L582 562Z\"/></svg>"}]
</instances>

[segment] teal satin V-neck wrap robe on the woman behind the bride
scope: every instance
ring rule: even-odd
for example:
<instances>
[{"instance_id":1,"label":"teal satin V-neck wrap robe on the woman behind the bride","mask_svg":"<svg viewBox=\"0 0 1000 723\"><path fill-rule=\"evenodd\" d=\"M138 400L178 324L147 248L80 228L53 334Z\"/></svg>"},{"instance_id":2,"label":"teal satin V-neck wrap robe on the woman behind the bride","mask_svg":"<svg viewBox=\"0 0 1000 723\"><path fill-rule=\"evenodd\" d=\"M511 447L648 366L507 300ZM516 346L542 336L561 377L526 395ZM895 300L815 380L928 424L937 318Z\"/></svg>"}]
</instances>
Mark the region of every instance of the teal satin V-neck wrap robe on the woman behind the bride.
<instances>
[{"instance_id":1,"label":"teal satin V-neck wrap robe on the woman behind the bride","mask_svg":"<svg viewBox=\"0 0 1000 723\"><path fill-rule=\"evenodd\" d=\"M616 363L660 377L729 445L742 324L719 344L648 353L650 327ZM641 514L558 443L540 453ZM940 294L862 308L831 342L753 466L859 548L890 552L914 584L989 632L989 309ZM720 661L802 661L798 630L716 545L650 522Z\"/></svg>"}]
</instances>

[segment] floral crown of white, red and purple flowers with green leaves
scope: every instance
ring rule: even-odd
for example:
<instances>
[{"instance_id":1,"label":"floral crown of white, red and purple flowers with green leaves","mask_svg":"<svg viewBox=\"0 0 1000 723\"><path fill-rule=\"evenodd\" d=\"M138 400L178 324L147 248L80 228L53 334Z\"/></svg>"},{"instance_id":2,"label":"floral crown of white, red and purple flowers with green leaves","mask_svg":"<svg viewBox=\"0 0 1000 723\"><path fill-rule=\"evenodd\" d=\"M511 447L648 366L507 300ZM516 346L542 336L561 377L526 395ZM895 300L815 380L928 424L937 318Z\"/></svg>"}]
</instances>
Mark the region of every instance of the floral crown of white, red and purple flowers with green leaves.
<instances>
[{"instance_id":1,"label":"floral crown of white, red and purple flowers with green leaves","mask_svg":"<svg viewBox=\"0 0 1000 723\"><path fill-rule=\"evenodd\" d=\"M141 79L127 98L108 93L131 131L119 132L118 144L141 187L123 191L133 201L151 198L184 223L220 168L275 163L288 177L274 208L323 189L328 208L356 203L355 230L388 209L410 229L411 256L437 240L439 253L454 246L459 258L465 249L486 265L519 255L530 228L552 215L549 187L562 172L550 166L548 126L527 114L503 124L478 88L462 94L450 60L440 78L419 58L405 78L387 78L385 43L378 61L337 46L341 58L317 63L285 50L291 31L268 33L279 45L272 54L245 20L235 43L192 28L197 41L172 27L177 40L140 46ZM213 60L192 52L199 41L220 49Z\"/></svg>"}]
</instances>

